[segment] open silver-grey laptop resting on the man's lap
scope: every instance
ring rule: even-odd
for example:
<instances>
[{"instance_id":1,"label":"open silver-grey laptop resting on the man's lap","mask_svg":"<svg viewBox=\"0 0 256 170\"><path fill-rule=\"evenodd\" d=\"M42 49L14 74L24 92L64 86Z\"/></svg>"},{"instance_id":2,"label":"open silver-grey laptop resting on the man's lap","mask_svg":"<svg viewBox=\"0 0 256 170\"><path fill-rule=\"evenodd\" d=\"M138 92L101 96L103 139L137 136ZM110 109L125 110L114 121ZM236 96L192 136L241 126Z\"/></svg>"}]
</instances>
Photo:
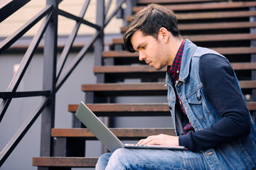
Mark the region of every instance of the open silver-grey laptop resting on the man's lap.
<instances>
[{"instance_id":1,"label":"open silver-grey laptop resting on the man's lap","mask_svg":"<svg viewBox=\"0 0 256 170\"><path fill-rule=\"evenodd\" d=\"M185 149L183 146L169 147L163 145L137 145L137 144L123 144L115 135L110 131L97 116L90 111L85 103L80 103L75 116L102 142L110 152L114 152L119 148L138 148L138 149Z\"/></svg>"}]
</instances>

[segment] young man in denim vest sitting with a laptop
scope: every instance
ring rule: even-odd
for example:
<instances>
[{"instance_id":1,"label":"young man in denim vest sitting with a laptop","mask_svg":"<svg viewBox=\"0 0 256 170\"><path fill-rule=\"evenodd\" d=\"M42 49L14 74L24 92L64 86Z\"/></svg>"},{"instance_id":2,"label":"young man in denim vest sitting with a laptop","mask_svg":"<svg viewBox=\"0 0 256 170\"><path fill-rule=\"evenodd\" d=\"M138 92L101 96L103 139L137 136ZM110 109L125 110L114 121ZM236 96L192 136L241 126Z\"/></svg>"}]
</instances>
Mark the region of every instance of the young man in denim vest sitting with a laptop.
<instances>
[{"instance_id":1,"label":"young man in denim vest sitting with a laptop","mask_svg":"<svg viewBox=\"0 0 256 170\"><path fill-rule=\"evenodd\" d=\"M144 145L187 149L117 149L96 169L254 169L256 128L228 60L183 40L174 13L151 4L124 34L124 47L155 69L166 66L167 99L176 136L155 135Z\"/></svg>"}]
</instances>

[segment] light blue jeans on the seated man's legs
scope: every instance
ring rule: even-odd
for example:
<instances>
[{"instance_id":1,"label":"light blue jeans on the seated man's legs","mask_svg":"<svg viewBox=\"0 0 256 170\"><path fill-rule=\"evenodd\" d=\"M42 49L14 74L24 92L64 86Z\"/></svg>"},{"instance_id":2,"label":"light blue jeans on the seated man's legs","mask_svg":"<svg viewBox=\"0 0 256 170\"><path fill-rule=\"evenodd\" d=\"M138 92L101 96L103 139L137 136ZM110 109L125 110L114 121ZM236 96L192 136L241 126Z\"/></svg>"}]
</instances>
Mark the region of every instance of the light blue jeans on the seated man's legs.
<instances>
[{"instance_id":1,"label":"light blue jeans on the seated man's legs","mask_svg":"<svg viewBox=\"0 0 256 170\"><path fill-rule=\"evenodd\" d=\"M220 162L219 162L220 163ZM218 164L218 162L216 162ZM223 164L223 162L222 162ZM223 169L228 166L223 164ZM166 149L117 149L102 154L96 169L210 169L201 152Z\"/></svg>"}]
</instances>

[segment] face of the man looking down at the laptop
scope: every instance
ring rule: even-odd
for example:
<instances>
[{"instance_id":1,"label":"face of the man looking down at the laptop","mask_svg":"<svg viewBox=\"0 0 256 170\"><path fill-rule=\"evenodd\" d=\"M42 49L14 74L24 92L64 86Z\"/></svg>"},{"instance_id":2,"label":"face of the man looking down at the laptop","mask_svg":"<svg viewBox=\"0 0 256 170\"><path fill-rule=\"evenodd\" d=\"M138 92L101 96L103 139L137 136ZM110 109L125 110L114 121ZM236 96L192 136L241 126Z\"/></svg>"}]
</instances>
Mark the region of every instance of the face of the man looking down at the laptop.
<instances>
[{"instance_id":1,"label":"face of the man looking down at the laptop","mask_svg":"<svg viewBox=\"0 0 256 170\"><path fill-rule=\"evenodd\" d=\"M158 39L151 35L144 35L141 30L134 32L131 38L132 47L139 52L139 60L144 60L146 64L154 69L162 69L169 63L169 54L161 35Z\"/></svg>"}]
</instances>

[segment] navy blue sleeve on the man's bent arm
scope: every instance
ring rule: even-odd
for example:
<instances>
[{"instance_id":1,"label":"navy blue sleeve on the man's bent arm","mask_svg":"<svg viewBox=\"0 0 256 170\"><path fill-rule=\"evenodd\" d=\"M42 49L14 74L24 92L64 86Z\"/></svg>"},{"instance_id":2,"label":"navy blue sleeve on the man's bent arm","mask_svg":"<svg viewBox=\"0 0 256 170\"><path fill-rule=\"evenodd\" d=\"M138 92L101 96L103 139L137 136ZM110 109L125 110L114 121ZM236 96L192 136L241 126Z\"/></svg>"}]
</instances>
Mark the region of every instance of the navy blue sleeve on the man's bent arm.
<instances>
[{"instance_id":1,"label":"navy blue sleeve on the man's bent arm","mask_svg":"<svg viewBox=\"0 0 256 170\"><path fill-rule=\"evenodd\" d=\"M218 55L203 55L199 61L199 75L205 95L222 118L210 128L180 136L179 145L198 151L250 134L250 115L235 85L235 75L228 60Z\"/></svg>"}]
</instances>

